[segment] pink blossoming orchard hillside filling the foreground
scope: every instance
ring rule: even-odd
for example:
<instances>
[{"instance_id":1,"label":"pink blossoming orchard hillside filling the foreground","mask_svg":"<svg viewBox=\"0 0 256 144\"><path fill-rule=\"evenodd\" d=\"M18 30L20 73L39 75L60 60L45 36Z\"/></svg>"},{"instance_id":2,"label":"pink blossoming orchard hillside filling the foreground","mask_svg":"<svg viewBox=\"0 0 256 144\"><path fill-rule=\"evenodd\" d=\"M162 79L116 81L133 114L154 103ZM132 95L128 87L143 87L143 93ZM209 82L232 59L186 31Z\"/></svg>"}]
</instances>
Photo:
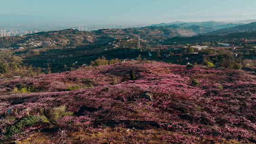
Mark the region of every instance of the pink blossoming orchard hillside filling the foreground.
<instances>
[{"instance_id":1,"label":"pink blossoming orchard hillside filling the foreground","mask_svg":"<svg viewBox=\"0 0 256 144\"><path fill-rule=\"evenodd\" d=\"M0 141L36 144L35 134L42 144L255 144L256 75L128 61L0 80Z\"/></svg>"}]
</instances>

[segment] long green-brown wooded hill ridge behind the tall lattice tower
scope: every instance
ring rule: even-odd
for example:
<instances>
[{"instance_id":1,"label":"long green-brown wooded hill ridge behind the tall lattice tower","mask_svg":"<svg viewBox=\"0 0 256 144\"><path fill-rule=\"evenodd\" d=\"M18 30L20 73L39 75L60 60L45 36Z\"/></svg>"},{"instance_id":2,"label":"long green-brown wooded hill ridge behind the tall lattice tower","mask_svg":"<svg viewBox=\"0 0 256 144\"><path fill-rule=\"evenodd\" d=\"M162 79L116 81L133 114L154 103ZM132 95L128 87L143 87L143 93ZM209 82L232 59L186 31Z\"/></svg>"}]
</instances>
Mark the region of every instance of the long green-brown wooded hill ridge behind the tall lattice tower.
<instances>
[{"instance_id":1,"label":"long green-brown wooded hill ridge behind the tall lattice tower","mask_svg":"<svg viewBox=\"0 0 256 144\"><path fill-rule=\"evenodd\" d=\"M94 39L102 39L109 37L114 39L138 38L140 35L141 41L149 44L159 44L167 38L175 36L195 36L199 31L198 27L141 27L141 28L126 28L126 29L99 29L91 32L78 31L73 29L40 32L26 36L10 36L0 38L0 46L10 47L25 43L29 39L37 39L38 41L55 41L63 44L70 42L79 42L79 44L89 44L82 39L87 39L87 36L92 36ZM99 40L98 42L100 42ZM93 42L99 44L98 42ZM102 41L103 42L103 41ZM103 42L104 43L104 42ZM107 43L107 42L106 42Z\"/></svg>"}]
</instances>

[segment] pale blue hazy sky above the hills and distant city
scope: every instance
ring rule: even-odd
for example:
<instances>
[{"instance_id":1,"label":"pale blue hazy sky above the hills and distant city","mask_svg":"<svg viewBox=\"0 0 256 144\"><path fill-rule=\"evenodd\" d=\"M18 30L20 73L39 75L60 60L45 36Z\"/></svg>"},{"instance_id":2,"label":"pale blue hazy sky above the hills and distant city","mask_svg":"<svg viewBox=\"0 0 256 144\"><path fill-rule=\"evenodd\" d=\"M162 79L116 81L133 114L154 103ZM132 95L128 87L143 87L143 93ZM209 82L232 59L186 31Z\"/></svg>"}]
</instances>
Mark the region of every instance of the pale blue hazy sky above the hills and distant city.
<instances>
[{"instance_id":1,"label":"pale blue hazy sky above the hills and distant city","mask_svg":"<svg viewBox=\"0 0 256 144\"><path fill-rule=\"evenodd\" d=\"M1 22L146 25L256 19L256 0L1 0Z\"/></svg>"}]
</instances>

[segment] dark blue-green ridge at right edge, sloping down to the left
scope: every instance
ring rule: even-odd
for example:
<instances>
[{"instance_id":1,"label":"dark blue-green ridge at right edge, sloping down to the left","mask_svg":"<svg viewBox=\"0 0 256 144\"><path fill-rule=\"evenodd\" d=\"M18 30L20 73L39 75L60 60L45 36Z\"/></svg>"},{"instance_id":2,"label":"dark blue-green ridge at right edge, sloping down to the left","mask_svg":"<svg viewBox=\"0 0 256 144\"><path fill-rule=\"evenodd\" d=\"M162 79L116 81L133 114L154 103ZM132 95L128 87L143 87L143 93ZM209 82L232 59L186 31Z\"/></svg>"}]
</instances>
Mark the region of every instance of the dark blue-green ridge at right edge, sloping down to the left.
<instances>
[{"instance_id":1,"label":"dark blue-green ridge at right edge, sloping down to the left","mask_svg":"<svg viewBox=\"0 0 256 144\"><path fill-rule=\"evenodd\" d=\"M256 31L256 22L252 22L246 25L239 25L236 27L229 27L224 29L219 29L208 33L209 35L227 35L231 33L241 33L241 32L253 32Z\"/></svg>"}]
</instances>

